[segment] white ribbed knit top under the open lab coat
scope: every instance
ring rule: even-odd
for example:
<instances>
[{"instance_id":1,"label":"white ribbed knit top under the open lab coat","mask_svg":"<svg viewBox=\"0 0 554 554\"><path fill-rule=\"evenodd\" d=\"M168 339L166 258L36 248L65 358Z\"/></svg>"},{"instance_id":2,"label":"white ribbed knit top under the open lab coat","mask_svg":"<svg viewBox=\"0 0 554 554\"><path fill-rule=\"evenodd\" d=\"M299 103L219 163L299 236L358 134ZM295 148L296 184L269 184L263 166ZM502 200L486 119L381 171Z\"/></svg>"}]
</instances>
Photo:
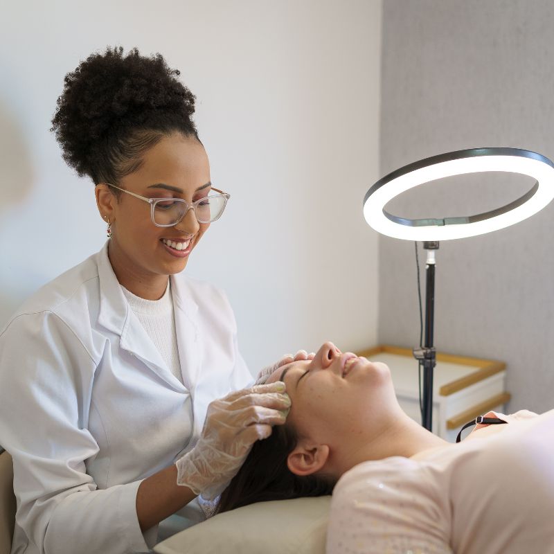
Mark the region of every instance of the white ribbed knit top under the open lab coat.
<instances>
[{"instance_id":1,"label":"white ribbed knit top under the open lab coat","mask_svg":"<svg viewBox=\"0 0 554 554\"><path fill-rule=\"evenodd\" d=\"M123 285L121 285L121 289L131 310L139 318L143 328L159 350L161 357L168 364L169 370L182 383L183 375L179 362L179 350L177 350L175 314L169 280L166 292L159 300L146 300L136 296Z\"/></svg>"}]
</instances>

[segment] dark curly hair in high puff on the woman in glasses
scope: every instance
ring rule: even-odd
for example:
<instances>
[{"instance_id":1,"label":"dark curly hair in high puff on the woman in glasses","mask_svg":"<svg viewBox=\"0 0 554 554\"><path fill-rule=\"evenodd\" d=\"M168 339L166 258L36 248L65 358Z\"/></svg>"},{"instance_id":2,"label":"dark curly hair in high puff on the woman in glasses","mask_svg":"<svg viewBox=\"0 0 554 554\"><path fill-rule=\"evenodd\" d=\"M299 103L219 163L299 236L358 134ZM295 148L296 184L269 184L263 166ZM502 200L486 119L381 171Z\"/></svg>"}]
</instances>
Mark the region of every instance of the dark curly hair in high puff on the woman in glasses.
<instances>
[{"instance_id":1,"label":"dark curly hair in high puff on the woman in glasses","mask_svg":"<svg viewBox=\"0 0 554 554\"><path fill-rule=\"evenodd\" d=\"M94 184L117 184L141 166L141 156L163 136L198 139L191 116L195 96L160 54L107 48L64 79L51 131L64 160Z\"/></svg>"}]
</instances>

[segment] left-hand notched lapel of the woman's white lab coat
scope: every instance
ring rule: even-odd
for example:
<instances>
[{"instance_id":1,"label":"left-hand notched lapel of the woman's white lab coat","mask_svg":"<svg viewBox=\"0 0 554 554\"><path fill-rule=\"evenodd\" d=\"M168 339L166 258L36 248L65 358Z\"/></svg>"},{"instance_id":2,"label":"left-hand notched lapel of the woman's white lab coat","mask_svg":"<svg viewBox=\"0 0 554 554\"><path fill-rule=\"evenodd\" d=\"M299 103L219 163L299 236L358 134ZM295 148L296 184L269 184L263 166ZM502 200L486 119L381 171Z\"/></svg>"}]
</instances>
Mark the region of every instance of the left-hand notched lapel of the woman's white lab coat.
<instances>
[{"instance_id":1,"label":"left-hand notched lapel of the woman's white lab coat","mask_svg":"<svg viewBox=\"0 0 554 554\"><path fill-rule=\"evenodd\" d=\"M161 357L148 333L121 290L120 284L111 268L108 258L108 244L98 253L98 278L100 282L100 313L98 322L120 336L120 347L132 356L143 361L161 379L177 391L183 390L183 384L173 375ZM179 336L177 334L177 336Z\"/></svg>"}]
</instances>

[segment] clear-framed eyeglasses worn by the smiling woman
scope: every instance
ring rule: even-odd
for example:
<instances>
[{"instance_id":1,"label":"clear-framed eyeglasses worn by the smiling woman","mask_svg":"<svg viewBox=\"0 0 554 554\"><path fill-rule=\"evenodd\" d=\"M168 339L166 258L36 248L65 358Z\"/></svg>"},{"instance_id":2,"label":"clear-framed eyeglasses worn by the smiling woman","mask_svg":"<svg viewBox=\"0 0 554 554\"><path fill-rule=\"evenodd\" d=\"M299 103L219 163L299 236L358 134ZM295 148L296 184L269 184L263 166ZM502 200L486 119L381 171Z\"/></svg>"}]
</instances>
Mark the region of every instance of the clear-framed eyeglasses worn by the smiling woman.
<instances>
[{"instance_id":1,"label":"clear-framed eyeglasses worn by the smiling woman","mask_svg":"<svg viewBox=\"0 0 554 554\"><path fill-rule=\"evenodd\" d=\"M220 219L227 200L231 195L222 190L212 188L212 192L204 198L199 198L195 202L187 202L182 198L147 198L145 196L132 193L130 190L120 188L106 183L107 186L121 190L123 193L134 196L150 204L150 217L152 223L157 227L172 227L177 225L189 210L193 210L199 223L211 223Z\"/></svg>"}]
</instances>

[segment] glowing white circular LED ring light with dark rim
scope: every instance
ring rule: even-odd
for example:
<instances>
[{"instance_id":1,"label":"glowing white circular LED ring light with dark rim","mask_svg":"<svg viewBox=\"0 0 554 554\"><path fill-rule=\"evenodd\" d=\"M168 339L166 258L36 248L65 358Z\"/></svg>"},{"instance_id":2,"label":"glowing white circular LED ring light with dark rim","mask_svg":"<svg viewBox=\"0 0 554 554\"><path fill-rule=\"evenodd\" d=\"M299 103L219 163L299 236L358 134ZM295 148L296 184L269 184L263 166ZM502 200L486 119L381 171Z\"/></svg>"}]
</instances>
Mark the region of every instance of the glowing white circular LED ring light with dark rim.
<instances>
[{"instance_id":1,"label":"glowing white circular LED ring light with dark rim","mask_svg":"<svg viewBox=\"0 0 554 554\"><path fill-rule=\"evenodd\" d=\"M415 186L485 171L519 173L537 182L514 202L476 215L409 220L384 209L394 197ZM519 148L472 148L416 161L379 179L364 197L364 217L375 231L393 238L451 240L490 233L523 221L553 198L554 163L542 154Z\"/></svg>"}]
</instances>

